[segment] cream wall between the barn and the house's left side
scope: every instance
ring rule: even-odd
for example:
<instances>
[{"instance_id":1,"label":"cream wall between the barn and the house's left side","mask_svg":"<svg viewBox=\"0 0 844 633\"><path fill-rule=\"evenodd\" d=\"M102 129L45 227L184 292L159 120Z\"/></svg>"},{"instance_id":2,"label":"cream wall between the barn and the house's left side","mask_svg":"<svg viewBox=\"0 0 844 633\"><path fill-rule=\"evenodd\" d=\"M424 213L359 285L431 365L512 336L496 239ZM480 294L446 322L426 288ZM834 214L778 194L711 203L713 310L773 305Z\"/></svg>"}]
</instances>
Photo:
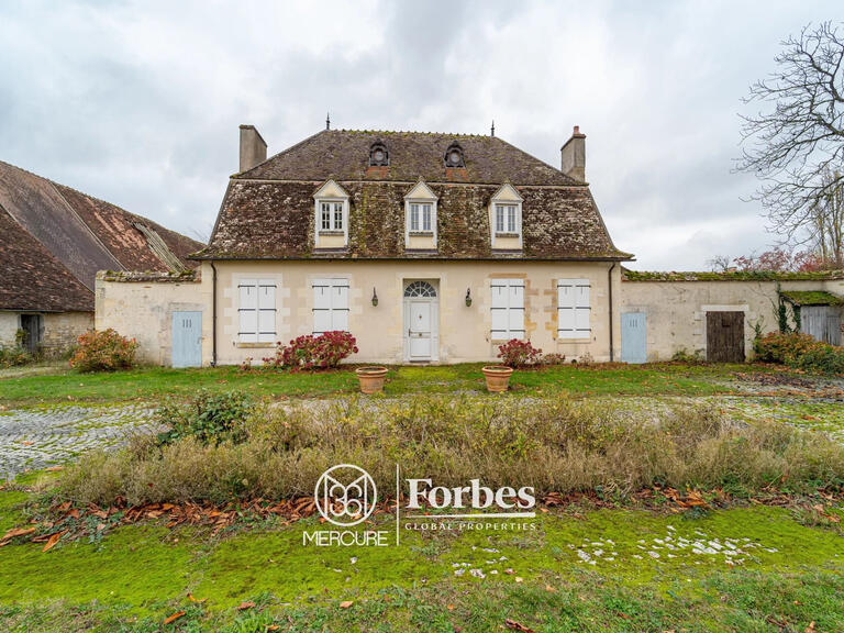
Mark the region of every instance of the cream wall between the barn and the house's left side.
<instances>
[{"instance_id":1,"label":"cream wall between the barn and the house's left side","mask_svg":"<svg viewBox=\"0 0 844 633\"><path fill-rule=\"evenodd\" d=\"M149 273L99 273L97 330L111 327L138 343L142 363L170 365L173 313L202 312L202 364L211 362L211 296L200 276Z\"/></svg>"}]
</instances>

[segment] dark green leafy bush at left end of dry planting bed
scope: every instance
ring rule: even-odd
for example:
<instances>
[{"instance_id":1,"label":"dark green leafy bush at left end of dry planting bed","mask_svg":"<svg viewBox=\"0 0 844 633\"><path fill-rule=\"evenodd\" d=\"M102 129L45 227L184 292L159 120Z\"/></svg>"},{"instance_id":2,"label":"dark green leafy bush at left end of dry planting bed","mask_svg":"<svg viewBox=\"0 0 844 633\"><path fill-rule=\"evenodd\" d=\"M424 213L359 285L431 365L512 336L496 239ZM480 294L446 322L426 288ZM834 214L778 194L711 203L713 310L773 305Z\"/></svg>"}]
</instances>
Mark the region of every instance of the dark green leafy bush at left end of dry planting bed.
<instances>
[{"instance_id":1,"label":"dark green leafy bush at left end of dry planting bed","mask_svg":"<svg viewBox=\"0 0 844 633\"><path fill-rule=\"evenodd\" d=\"M255 408L245 393L200 391L187 402L167 400L156 411L156 419L168 430L158 435L159 444L171 444L181 437L195 437L201 444L235 444L246 438L244 421Z\"/></svg>"}]
</instances>

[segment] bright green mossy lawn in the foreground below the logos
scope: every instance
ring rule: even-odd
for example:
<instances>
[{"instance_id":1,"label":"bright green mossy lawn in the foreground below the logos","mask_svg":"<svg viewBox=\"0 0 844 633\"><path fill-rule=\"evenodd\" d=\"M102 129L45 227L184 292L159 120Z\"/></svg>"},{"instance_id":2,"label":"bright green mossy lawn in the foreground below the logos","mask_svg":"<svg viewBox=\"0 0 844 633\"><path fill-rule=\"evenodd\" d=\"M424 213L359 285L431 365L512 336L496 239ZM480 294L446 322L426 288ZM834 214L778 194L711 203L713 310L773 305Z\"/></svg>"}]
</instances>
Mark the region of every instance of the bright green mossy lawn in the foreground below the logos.
<instances>
[{"instance_id":1,"label":"bright green mossy lawn in the foreground below the logos","mask_svg":"<svg viewBox=\"0 0 844 633\"><path fill-rule=\"evenodd\" d=\"M0 509L16 515L20 496L0 492ZM218 535L129 525L0 548L0 629L842 631L844 537L806 517L581 507L541 513L528 533L403 529L399 546L321 548L302 545L314 520Z\"/></svg>"}]
</instances>

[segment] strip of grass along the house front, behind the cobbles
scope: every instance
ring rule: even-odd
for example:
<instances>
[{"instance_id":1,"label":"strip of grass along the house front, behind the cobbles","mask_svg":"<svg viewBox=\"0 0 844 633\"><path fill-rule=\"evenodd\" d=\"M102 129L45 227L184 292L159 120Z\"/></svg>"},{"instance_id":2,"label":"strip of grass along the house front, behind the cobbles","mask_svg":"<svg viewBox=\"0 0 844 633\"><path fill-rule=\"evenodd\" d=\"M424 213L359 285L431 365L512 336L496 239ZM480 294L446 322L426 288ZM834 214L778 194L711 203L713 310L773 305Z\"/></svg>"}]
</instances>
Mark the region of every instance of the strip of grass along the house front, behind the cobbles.
<instances>
[{"instance_id":1,"label":"strip of grass along the house front, behind the cobbles","mask_svg":"<svg viewBox=\"0 0 844 633\"><path fill-rule=\"evenodd\" d=\"M404 393L454 393L482 391L481 364L397 366L390 368L387 396ZM747 365L562 365L517 371L511 380L519 395L567 391L573 395L673 395L706 396L731 392L730 381ZM243 371L237 367L173 369L145 367L115 374L79 374L54 368L33 374L0 375L0 402L5 406L77 401L156 401L165 396L185 396L198 389L242 390L274 398L326 397L357 390L353 368L318 374ZM754 366L754 371L774 371Z\"/></svg>"}]
</instances>

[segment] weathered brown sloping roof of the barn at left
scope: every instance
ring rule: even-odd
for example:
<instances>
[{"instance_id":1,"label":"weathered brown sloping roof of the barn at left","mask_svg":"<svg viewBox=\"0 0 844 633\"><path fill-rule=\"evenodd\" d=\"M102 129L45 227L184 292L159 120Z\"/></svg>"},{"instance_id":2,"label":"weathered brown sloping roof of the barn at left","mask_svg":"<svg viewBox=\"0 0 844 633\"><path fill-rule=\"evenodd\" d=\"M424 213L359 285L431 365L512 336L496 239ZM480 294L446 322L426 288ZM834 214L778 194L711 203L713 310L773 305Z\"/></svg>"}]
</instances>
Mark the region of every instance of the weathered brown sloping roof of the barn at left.
<instances>
[{"instance_id":1,"label":"weathered brown sloping roof of the barn at left","mask_svg":"<svg viewBox=\"0 0 844 633\"><path fill-rule=\"evenodd\" d=\"M22 302L26 310L79 310L82 303L92 310L98 270L184 269L196 265L187 257L202 247L146 218L3 162L0 211L0 310L24 309ZM59 292L60 284L51 289L52 281L38 275L69 276L75 282ZM81 303L80 288L90 295Z\"/></svg>"}]
</instances>

